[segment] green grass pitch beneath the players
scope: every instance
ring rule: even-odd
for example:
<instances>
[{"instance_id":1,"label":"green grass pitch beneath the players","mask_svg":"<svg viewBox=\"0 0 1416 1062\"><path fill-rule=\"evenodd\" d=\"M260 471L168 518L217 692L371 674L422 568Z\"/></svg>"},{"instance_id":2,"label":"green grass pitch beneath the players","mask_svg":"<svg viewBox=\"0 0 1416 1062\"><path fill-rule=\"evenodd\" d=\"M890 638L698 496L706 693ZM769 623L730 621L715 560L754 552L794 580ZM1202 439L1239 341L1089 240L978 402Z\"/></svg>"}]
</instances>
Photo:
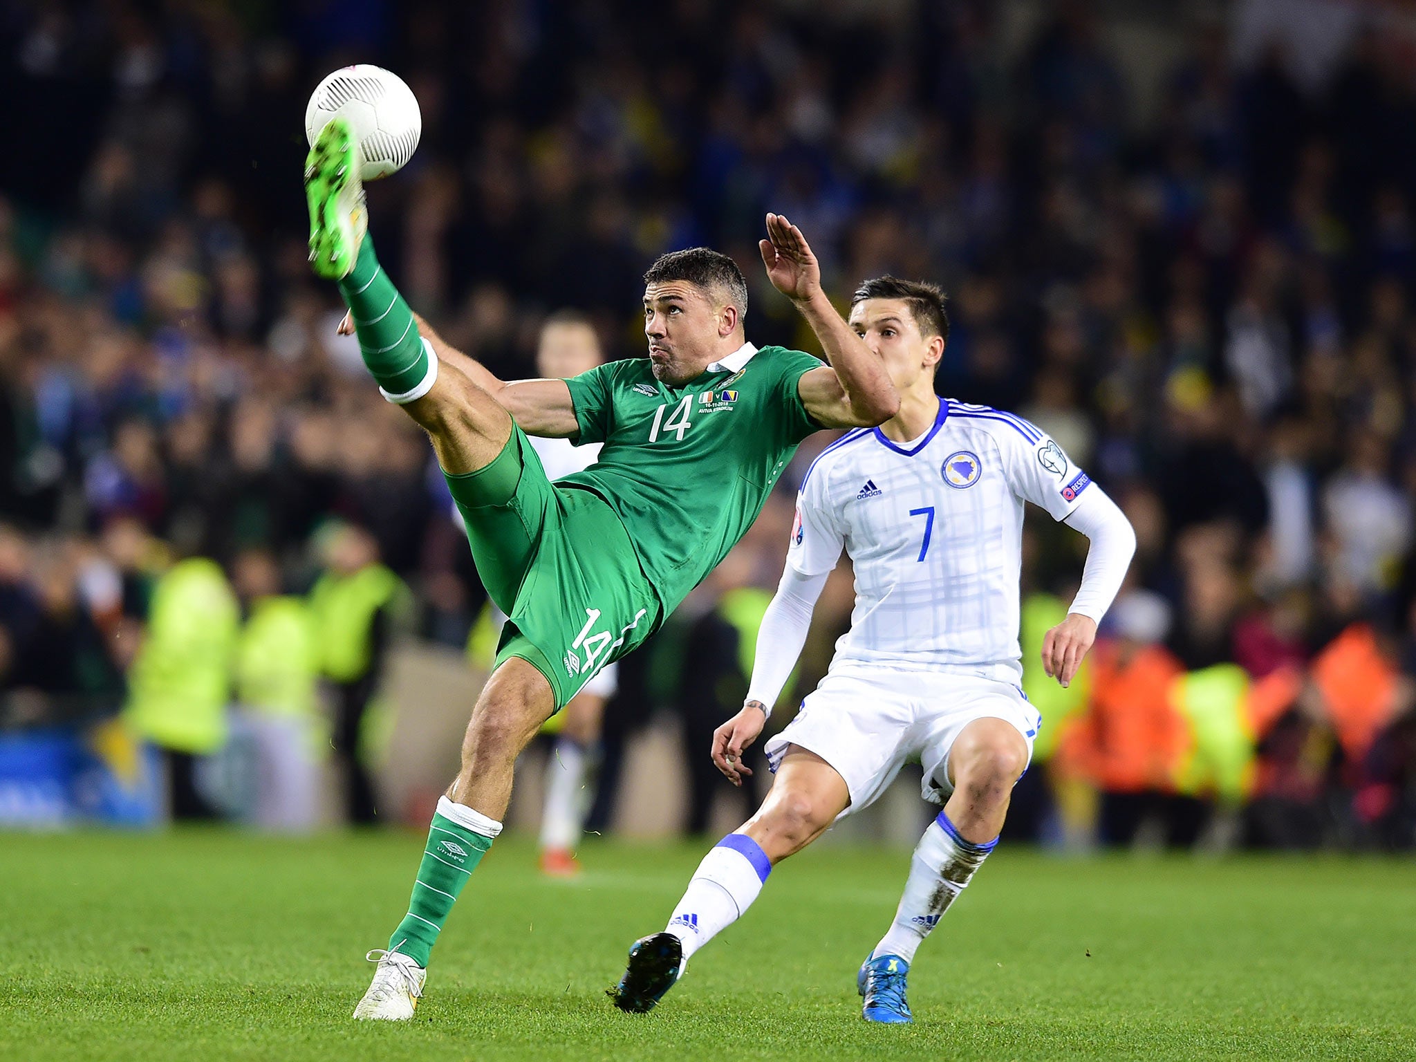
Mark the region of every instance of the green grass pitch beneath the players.
<instances>
[{"instance_id":1,"label":"green grass pitch beneath the players","mask_svg":"<svg viewBox=\"0 0 1416 1062\"><path fill-rule=\"evenodd\" d=\"M421 838L0 835L0 1058L1412 1059L1416 864L1003 848L926 942L916 1024L860 1018L855 969L908 852L820 845L647 1017L603 990L700 845L596 843L576 882L506 838L408 1025L355 1025L365 949Z\"/></svg>"}]
</instances>

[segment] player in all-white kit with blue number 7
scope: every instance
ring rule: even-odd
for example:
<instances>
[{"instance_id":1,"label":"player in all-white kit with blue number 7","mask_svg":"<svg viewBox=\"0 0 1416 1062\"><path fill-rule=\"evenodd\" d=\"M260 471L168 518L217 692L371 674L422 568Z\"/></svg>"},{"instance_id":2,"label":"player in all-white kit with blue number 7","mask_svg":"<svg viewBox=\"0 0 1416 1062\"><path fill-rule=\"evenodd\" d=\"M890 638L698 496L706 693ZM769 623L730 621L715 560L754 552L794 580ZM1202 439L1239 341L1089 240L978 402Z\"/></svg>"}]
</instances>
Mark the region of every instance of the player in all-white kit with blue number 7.
<instances>
[{"instance_id":1,"label":"player in all-white kit with blue number 7","mask_svg":"<svg viewBox=\"0 0 1416 1062\"><path fill-rule=\"evenodd\" d=\"M714 733L732 782L787 681L843 548L855 572L850 633L831 671L766 746L762 809L700 864L661 933L630 949L620 1010L653 1008L688 959L739 919L772 867L864 810L908 762L944 804L915 848L895 920L858 976L867 1021L909 1022L915 950L998 843L1012 784L1042 725L1020 683L1022 513L1031 501L1090 539L1082 586L1046 633L1046 674L1066 685L1136 551L1100 487L1029 422L935 394L949 338L943 293L867 280L851 327L891 374L899 412L821 452L801 484L786 571L758 634L742 711Z\"/></svg>"}]
</instances>

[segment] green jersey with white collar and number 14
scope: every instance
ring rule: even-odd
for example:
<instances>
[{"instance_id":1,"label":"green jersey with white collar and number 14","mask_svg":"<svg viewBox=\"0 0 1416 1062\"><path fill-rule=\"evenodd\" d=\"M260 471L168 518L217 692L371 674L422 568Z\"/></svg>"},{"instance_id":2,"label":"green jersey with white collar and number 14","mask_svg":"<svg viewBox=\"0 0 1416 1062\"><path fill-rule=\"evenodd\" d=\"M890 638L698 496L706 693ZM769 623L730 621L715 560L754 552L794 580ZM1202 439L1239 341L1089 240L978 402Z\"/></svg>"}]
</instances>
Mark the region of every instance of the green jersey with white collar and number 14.
<instances>
[{"instance_id":1,"label":"green jersey with white collar and number 14","mask_svg":"<svg viewBox=\"0 0 1416 1062\"><path fill-rule=\"evenodd\" d=\"M565 381L576 445L605 446L599 462L558 483L609 503L666 613L746 534L797 445L821 429L797 391L820 364L748 344L684 387L656 379L649 358Z\"/></svg>"}]
</instances>

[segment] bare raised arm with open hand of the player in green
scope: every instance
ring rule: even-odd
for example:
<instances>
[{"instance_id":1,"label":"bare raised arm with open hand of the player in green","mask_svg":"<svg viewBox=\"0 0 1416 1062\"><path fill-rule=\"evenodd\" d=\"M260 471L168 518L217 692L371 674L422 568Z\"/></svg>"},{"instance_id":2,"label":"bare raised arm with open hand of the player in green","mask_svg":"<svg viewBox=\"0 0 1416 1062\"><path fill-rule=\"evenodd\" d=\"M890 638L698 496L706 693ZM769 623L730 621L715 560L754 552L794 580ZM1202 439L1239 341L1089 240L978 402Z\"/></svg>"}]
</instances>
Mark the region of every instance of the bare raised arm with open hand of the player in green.
<instances>
[{"instance_id":1,"label":"bare raised arm with open hand of the player in green","mask_svg":"<svg viewBox=\"0 0 1416 1062\"><path fill-rule=\"evenodd\" d=\"M767 279L801 312L831 362L803 374L797 384L807 412L827 428L885 423L899 409L895 385L826 297L821 266L801 229L780 214L769 214L767 236L758 242Z\"/></svg>"}]
</instances>

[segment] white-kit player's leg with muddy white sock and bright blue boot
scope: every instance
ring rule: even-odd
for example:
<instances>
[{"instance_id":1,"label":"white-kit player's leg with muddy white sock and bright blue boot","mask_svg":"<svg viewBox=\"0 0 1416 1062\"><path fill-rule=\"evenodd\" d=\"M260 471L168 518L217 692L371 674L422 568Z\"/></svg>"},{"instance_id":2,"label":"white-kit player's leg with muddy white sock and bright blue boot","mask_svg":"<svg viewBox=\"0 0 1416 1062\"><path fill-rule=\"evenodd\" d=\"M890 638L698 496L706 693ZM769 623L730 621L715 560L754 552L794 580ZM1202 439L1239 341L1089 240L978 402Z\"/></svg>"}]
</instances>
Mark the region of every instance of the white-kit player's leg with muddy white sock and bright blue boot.
<instances>
[{"instance_id":1,"label":"white-kit player's leg with muddy white sock and bright blue boot","mask_svg":"<svg viewBox=\"0 0 1416 1062\"><path fill-rule=\"evenodd\" d=\"M959 733L949 752L954 792L915 845L895 920L855 977L867 1021L913 1021L905 995L909 964L998 844L1012 784L1027 766L1027 741L1003 719L974 719Z\"/></svg>"}]
</instances>

